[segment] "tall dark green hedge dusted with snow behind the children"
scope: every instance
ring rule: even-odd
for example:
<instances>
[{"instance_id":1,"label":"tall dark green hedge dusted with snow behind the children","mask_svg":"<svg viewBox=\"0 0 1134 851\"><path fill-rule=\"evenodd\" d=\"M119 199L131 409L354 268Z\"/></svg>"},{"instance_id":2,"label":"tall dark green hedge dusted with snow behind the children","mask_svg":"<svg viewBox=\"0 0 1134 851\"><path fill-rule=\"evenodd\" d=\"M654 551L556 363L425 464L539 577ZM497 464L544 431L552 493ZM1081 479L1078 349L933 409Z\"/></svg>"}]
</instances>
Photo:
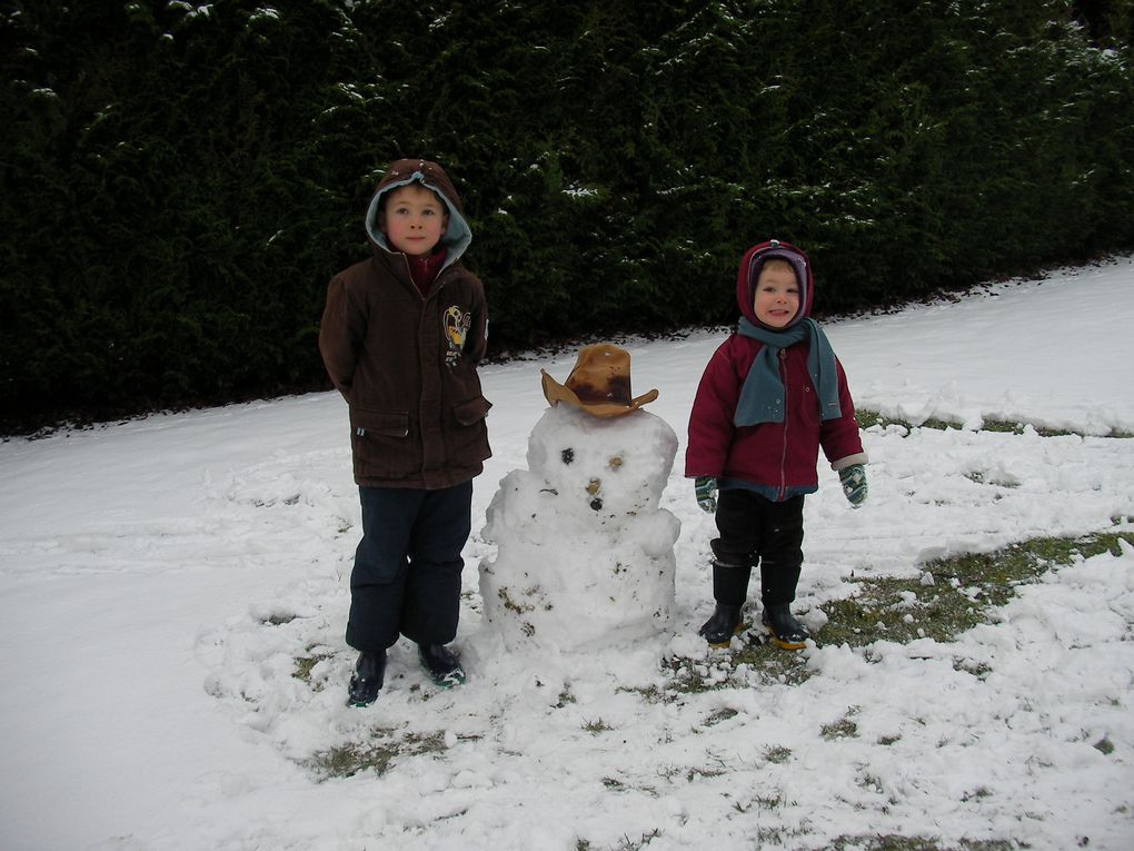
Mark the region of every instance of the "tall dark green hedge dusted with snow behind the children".
<instances>
[{"instance_id":1,"label":"tall dark green hedge dusted with snow behind the children","mask_svg":"<svg viewBox=\"0 0 1134 851\"><path fill-rule=\"evenodd\" d=\"M491 346L816 311L1134 245L1124 2L16 2L7 429L325 387L327 280L392 160L450 171Z\"/></svg>"}]
</instances>

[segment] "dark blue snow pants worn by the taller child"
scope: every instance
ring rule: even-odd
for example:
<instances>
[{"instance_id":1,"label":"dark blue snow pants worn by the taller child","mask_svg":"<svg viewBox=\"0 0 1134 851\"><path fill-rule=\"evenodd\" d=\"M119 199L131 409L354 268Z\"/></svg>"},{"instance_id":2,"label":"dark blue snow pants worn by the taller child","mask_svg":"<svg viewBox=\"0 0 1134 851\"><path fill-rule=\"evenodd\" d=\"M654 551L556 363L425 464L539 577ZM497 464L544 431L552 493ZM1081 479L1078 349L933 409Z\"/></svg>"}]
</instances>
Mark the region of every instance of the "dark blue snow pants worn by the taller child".
<instances>
[{"instance_id":1,"label":"dark blue snow pants worn by the taller child","mask_svg":"<svg viewBox=\"0 0 1134 851\"><path fill-rule=\"evenodd\" d=\"M347 643L376 652L399 635L420 644L452 641L472 481L443 490L358 488L358 495L363 538L350 572Z\"/></svg>"}]
</instances>

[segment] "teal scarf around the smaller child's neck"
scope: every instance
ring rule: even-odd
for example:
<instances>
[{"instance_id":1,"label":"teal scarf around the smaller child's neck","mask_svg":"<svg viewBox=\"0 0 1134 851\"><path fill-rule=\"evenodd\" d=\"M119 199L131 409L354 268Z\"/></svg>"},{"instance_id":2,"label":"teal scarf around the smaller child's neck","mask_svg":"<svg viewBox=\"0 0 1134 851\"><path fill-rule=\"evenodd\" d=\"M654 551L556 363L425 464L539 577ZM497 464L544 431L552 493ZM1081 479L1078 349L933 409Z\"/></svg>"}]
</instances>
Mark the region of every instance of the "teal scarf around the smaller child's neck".
<instances>
[{"instance_id":1,"label":"teal scarf around the smaller child's neck","mask_svg":"<svg viewBox=\"0 0 1134 851\"><path fill-rule=\"evenodd\" d=\"M735 426L755 426L761 422L784 422L784 381L779 372L779 353L781 348L807 339L811 351L807 352L807 374L819 395L819 418L836 420L843 415L839 410L839 378L835 366L835 349L831 348L827 335L813 319L804 319L786 331L772 331L759 328L746 318L741 317L737 331L744 337L752 337L763 343L763 348L756 355L744 379L741 398L736 403Z\"/></svg>"}]
</instances>

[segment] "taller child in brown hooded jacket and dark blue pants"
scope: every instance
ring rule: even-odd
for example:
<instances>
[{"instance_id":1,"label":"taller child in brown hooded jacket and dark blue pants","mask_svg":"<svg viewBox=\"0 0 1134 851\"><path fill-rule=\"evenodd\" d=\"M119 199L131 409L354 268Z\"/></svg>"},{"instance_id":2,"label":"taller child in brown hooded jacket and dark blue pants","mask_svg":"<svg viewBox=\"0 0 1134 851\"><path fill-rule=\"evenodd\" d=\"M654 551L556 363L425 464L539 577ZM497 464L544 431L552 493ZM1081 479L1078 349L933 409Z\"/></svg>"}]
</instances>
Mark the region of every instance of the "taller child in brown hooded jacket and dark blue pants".
<instances>
[{"instance_id":1,"label":"taller child in brown hooded jacket and dark blue pants","mask_svg":"<svg viewBox=\"0 0 1134 851\"><path fill-rule=\"evenodd\" d=\"M472 480L491 455L476 373L488 312L460 263L472 231L456 189L435 162L398 160L365 224L373 256L331 280L319 332L349 406L362 502L346 631L358 650L354 706L378 698L399 635L417 643L438 685L464 682L446 644L457 633Z\"/></svg>"}]
</instances>

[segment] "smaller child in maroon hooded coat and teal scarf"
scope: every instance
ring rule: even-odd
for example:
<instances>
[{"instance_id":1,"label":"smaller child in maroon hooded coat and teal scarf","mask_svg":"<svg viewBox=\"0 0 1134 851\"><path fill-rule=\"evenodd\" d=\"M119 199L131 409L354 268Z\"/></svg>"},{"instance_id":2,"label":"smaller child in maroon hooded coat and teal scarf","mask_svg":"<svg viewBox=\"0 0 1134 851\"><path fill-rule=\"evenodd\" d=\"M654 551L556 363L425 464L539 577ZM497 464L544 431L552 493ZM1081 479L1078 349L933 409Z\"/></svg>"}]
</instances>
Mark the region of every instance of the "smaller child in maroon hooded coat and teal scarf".
<instances>
[{"instance_id":1,"label":"smaller child in maroon hooded coat and teal scarf","mask_svg":"<svg viewBox=\"0 0 1134 851\"><path fill-rule=\"evenodd\" d=\"M790 603L820 447L850 504L866 498L854 404L826 335L807 318L813 297L799 248L776 239L750 248L736 279L739 328L713 353L693 402L685 474L720 533L712 541L717 605L700 630L713 647L728 647L742 630L756 564L771 641L798 650L810 638Z\"/></svg>"}]
</instances>

